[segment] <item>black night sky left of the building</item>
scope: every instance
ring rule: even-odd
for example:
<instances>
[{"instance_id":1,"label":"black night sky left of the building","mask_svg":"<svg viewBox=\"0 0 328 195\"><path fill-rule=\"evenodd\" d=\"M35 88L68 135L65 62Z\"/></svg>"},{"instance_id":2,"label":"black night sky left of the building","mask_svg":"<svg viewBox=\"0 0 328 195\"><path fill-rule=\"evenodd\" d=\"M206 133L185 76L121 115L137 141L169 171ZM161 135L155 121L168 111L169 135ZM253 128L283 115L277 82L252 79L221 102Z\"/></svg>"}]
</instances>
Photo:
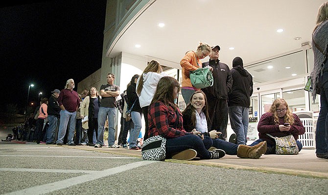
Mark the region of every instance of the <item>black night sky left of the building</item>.
<instances>
[{"instance_id":1,"label":"black night sky left of the building","mask_svg":"<svg viewBox=\"0 0 328 195\"><path fill-rule=\"evenodd\" d=\"M70 78L77 83L101 67L106 0L1 4L0 106L25 107L49 97Z\"/></svg>"}]
</instances>

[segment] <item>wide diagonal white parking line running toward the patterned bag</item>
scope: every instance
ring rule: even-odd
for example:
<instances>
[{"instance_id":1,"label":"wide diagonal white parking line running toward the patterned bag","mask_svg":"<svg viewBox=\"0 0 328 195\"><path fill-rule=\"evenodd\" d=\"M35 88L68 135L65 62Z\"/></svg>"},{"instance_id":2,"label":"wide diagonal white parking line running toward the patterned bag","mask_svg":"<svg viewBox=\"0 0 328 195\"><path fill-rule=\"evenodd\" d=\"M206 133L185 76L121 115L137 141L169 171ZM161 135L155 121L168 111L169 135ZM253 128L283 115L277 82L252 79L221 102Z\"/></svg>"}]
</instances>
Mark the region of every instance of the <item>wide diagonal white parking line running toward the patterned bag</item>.
<instances>
[{"instance_id":1,"label":"wide diagonal white parking line running toward the patterned bag","mask_svg":"<svg viewBox=\"0 0 328 195\"><path fill-rule=\"evenodd\" d=\"M73 177L70 179L65 179L62 181L57 181L54 183L48 183L45 185L41 185L41 186L35 186L35 187L31 187L31 188L25 188L23 190L19 190L16 192L12 192L12 193L7 193L4 195L41 195L41 194L47 194L56 190L61 190L64 188L69 188L71 186L77 185L77 184L81 184L84 182L88 182L88 181L92 181L94 179L99 179L101 177L106 177L109 175L113 175L116 173L121 173L121 172L125 172L137 167L141 167L144 165L148 165L151 163L155 163L158 161L140 161L140 162L135 162L135 163L131 163L131 164L127 164L127 165L122 165L119 167L115 167L112 169L107 169L104 171L99 171L99 172L95 172L95 173L91 173L91 174L85 174L85 175L81 175L81 176L77 176L77 177Z\"/></svg>"}]
</instances>

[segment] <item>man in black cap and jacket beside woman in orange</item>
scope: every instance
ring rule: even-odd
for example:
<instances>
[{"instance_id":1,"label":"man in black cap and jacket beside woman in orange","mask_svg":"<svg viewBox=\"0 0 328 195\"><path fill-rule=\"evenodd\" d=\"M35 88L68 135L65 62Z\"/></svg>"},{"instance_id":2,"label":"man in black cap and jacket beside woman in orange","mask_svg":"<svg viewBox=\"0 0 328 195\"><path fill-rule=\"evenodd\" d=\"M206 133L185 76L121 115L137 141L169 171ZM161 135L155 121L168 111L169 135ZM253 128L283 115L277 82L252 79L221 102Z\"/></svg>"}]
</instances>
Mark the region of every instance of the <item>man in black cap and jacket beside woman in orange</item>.
<instances>
[{"instance_id":1,"label":"man in black cap and jacket beside woman in orange","mask_svg":"<svg viewBox=\"0 0 328 195\"><path fill-rule=\"evenodd\" d=\"M209 115L211 119L208 121L208 130L216 130L222 132L220 139L227 138L228 125L228 94L231 92L233 85L233 77L229 66L220 63L219 60L220 46L212 46L210 53L210 61L203 63L203 67L210 66L213 68L213 86L203 88L209 100Z\"/></svg>"}]
</instances>

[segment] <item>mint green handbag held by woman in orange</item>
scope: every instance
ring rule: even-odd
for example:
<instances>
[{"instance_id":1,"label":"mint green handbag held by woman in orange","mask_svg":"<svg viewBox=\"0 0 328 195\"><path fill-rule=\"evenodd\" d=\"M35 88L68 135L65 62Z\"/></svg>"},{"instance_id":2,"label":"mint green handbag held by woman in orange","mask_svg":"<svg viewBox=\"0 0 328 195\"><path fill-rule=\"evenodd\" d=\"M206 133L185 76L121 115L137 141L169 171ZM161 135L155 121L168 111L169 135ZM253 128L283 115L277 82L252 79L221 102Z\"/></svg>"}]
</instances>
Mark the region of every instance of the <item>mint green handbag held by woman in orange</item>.
<instances>
[{"instance_id":1,"label":"mint green handbag held by woman in orange","mask_svg":"<svg viewBox=\"0 0 328 195\"><path fill-rule=\"evenodd\" d=\"M205 88L213 86L213 75L210 68L198 68L190 71L190 81L193 87Z\"/></svg>"}]
</instances>

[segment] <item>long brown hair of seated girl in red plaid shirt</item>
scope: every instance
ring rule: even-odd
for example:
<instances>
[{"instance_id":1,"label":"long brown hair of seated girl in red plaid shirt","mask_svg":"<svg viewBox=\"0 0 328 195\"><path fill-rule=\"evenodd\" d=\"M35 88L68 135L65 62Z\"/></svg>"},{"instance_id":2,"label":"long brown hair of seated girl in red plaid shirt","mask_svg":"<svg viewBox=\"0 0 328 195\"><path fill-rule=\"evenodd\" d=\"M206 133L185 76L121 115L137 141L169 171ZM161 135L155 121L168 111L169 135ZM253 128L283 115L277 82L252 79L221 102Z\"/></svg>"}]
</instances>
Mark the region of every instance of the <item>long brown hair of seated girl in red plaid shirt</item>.
<instances>
[{"instance_id":1,"label":"long brown hair of seated girl in red plaid shirt","mask_svg":"<svg viewBox=\"0 0 328 195\"><path fill-rule=\"evenodd\" d=\"M175 78L169 76L162 77L157 84L153 100L150 104L161 101L167 107L172 105L176 109L177 107L173 97L174 87L178 87L178 91L180 90L180 84Z\"/></svg>"}]
</instances>

